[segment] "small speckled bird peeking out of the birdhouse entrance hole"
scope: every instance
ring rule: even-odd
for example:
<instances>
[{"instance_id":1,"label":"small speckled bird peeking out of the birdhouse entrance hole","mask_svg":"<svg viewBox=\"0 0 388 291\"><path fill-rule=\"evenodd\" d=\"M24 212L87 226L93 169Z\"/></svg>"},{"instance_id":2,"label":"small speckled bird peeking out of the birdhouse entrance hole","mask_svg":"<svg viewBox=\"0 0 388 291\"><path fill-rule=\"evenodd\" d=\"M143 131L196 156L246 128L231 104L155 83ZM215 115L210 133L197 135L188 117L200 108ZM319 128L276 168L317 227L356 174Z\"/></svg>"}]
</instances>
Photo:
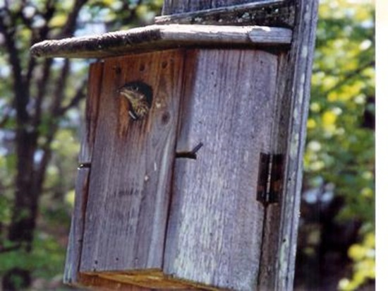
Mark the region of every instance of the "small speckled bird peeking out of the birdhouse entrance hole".
<instances>
[{"instance_id":1,"label":"small speckled bird peeking out of the birdhouse entrance hole","mask_svg":"<svg viewBox=\"0 0 388 291\"><path fill-rule=\"evenodd\" d=\"M121 96L126 97L130 104L128 114L133 120L143 119L152 105L152 88L142 81L126 83L119 88Z\"/></svg>"}]
</instances>

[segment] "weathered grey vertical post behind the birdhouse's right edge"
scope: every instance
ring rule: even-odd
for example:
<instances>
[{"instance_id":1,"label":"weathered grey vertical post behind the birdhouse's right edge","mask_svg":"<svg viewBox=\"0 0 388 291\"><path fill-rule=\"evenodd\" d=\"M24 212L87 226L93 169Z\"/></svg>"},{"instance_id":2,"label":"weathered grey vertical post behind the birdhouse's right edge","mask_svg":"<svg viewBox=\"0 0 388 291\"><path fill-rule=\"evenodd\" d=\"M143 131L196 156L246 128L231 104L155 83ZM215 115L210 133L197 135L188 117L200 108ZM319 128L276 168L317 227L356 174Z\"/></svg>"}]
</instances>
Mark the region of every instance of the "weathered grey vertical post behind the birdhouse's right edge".
<instances>
[{"instance_id":1,"label":"weathered grey vertical post behind the birdhouse's right edge","mask_svg":"<svg viewBox=\"0 0 388 291\"><path fill-rule=\"evenodd\" d=\"M285 138L278 144L286 145L284 191L281 199L280 217L269 212L273 220L267 226L269 232L279 229L277 242L267 239L266 244L277 243L274 256L267 257L267 266L272 272L262 269L259 289L292 290L295 269L296 242L298 236L301 184L303 177L303 153L306 136L306 120L310 102L310 79L315 47L318 0L296 0L296 23L293 28L291 50L279 76L279 93L289 97L284 116L289 119ZM287 105L288 104L288 105ZM288 108L287 108L288 107ZM279 146L279 145L278 145ZM277 213L279 211L277 210ZM279 228L277 227L279 225ZM265 247L265 246L264 246ZM268 246L267 246L268 247Z\"/></svg>"}]
</instances>

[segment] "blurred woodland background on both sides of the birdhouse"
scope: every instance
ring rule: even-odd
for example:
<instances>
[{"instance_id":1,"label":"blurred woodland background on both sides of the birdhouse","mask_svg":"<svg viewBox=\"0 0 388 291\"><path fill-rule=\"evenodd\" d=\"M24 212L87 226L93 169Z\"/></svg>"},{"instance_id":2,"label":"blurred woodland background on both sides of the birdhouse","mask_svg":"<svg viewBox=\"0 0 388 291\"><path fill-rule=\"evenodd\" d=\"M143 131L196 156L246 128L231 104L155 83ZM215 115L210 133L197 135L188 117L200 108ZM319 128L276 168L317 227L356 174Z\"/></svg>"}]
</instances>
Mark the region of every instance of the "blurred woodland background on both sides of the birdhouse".
<instances>
[{"instance_id":1,"label":"blurred woodland background on both sides of the birdhouse","mask_svg":"<svg viewBox=\"0 0 388 291\"><path fill-rule=\"evenodd\" d=\"M162 2L0 1L0 290L68 289L88 62L30 46L146 25ZM321 0L319 17L295 290L374 290L374 1Z\"/></svg>"}]
</instances>

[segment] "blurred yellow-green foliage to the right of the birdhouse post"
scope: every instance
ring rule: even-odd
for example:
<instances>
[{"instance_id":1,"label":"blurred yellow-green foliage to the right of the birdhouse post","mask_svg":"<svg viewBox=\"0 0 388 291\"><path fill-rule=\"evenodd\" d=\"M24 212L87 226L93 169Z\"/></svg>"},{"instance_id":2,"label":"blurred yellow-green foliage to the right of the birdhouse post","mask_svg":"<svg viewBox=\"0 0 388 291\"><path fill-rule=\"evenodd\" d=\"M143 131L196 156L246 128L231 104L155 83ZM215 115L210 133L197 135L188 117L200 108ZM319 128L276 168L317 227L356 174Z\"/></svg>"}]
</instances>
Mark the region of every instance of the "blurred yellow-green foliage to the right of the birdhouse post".
<instances>
[{"instance_id":1,"label":"blurred yellow-green foliage to the right of the birdhouse post","mask_svg":"<svg viewBox=\"0 0 388 291\"><path fill-rule=\"evenodd\" d=\"M375 27L367 1L320 1L311 88L305 182L334 185L346 204L337 220L363 222L363 243L349 249L353 276L341 290L375 278ZM372 243L373 241L373 243Z\"/></svg>"}]
</instances>

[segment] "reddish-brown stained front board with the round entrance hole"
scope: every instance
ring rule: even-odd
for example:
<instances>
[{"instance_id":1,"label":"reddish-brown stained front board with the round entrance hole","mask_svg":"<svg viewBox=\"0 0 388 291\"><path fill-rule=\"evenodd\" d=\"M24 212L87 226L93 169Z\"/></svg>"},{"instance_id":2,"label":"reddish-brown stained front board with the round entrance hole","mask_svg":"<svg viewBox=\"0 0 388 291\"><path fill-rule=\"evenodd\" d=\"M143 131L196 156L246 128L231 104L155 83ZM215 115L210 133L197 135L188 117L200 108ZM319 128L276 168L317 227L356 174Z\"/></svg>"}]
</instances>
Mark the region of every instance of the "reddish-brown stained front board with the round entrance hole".
<instances>
[{"instance_id":1,"label":"reddish-brown stained front board with the round entrance hole","mask_svg":"<svg viewBox=\"0 0 388 291\"><path fill-rule=\"evenodd\" d=\"M162 268L184 54L104 61L80 271ZM128 116L117 89L152 86L145 119Z\"/></svg>"}]
</instances>

